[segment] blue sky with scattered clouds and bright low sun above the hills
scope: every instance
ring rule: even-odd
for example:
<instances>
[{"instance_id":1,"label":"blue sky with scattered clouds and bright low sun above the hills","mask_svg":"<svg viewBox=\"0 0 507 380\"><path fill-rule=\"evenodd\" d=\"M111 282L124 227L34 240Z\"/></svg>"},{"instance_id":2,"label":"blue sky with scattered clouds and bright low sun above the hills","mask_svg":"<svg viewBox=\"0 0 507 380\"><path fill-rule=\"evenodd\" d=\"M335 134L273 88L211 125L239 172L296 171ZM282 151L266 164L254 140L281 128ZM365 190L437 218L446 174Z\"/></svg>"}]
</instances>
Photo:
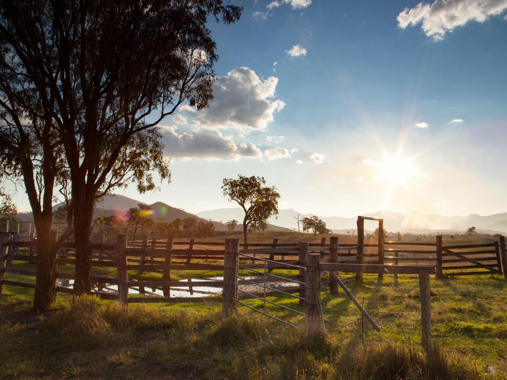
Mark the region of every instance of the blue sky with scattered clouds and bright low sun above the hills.
<instances>
[{"instance_id":1,"label":"blue sky with scattered clouds and bright low sun above the hills","mask_svg":"<svg viewBox=\"0 0 507 380\"><path fill-rule=\"evenodd\" d=\"M161 123L172 182L119 194L233 207L222 179L244 174L319 215L507 210L507 0L234 4L210 24L215 99Z\"/></svg>"}]
</instances>

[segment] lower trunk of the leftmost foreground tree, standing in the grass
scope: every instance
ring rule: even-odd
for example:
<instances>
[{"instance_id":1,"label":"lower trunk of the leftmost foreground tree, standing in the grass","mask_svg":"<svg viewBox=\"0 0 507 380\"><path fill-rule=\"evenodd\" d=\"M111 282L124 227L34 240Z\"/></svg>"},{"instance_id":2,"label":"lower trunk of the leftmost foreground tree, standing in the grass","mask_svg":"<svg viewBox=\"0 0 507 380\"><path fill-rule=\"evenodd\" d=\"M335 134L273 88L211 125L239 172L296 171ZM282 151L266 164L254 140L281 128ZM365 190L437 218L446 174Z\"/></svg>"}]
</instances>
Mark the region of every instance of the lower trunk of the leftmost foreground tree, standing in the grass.
<instances>
[{"instance_id":1,"label":"lower trunk of the leftmost foreground tree, standing in the grass","mask_svg":"<svg viewBox=\"0 0 507 380\"><path fill-rule=\"evenodd\" d=\"M37 226L37 280L33 310L44 312L56 299L54 264L58 252L51 239L51 219L35 220Z\"/></svg>"}]
</instances>

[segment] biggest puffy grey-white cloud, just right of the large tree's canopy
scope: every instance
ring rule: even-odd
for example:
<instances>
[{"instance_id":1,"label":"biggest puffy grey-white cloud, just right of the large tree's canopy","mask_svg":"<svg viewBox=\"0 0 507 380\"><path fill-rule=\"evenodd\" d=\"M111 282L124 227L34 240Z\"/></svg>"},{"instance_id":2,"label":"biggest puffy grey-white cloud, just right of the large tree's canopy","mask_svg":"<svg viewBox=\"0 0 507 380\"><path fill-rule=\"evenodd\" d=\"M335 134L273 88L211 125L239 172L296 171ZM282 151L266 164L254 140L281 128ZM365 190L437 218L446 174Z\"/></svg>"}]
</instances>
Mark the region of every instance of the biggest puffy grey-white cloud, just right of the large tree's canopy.
<instances>
[{"instance_id":1,"label":"biggest puffy grey-white cloud, just right of the large tree's canopy","mask_svg":"<svg viewBox=\"0 0 507 380\"><path fill-rule=\"evenodd\" d=\"M285 103L275 99L278 78L259 78L248 67L235 68L213 83L213 100L194 122L212 128L262 130Z\"/></svg>"}]
</instances>

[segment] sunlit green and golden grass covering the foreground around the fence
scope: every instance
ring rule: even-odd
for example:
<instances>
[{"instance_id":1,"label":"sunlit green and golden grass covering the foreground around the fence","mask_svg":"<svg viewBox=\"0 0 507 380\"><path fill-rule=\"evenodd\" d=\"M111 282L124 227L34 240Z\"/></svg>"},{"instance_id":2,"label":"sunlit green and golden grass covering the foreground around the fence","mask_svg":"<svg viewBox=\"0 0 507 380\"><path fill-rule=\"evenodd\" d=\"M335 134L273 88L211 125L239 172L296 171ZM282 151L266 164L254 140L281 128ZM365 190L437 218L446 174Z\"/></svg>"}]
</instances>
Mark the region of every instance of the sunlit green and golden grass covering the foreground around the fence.
<instances>
[{"instance_id":1,"label":"sunlit green and golden grass covering the foreground around the fence","mask_svg":"<svg viewBox=\"0 0 507 380\"><path fill-rule=\"evenodd\" d=\"M273 238L320 241L308 234L270 233L251 236L250 242ZM349 237L340 242L348 239L354 242ZM465 242L483 239L453 240ZM196 277L174 273L190 275ZM244 307L237 316L223 318L220 303L125 309L114 301L84 297L73 302L59 295L53 310L37 315L30 311L31 289L4 286L0 378L507 379L507 281L500 276L431 279L434 350L427 358L420 349L415 276L395 281L385 275L379 282L365 275L363 285L348 286L381 326L380 333L361 320L343 292L331 295L327 286L323 277L328 335L316 341ZM288 297L271 300L304 310ZM262 307L261 301L247 302ZM293 313L272 305L267 310L303 325Z\"/></svg>"}]
</instances>

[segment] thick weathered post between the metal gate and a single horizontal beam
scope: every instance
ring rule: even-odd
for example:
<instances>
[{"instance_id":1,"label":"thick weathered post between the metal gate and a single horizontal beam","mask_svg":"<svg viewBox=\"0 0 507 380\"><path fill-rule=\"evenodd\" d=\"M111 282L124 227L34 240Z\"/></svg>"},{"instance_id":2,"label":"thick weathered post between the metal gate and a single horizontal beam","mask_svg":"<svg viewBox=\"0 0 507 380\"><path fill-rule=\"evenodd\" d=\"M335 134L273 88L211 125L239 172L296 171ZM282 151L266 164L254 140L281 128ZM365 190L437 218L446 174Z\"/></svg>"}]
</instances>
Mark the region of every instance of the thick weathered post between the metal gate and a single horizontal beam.
<instances>
[{"instance_id":1,"label":"thick weathered post between the metal gate and a single horizontal beam","mask_svg":"<svg viewBox=\"0 0 507 380\"><path fill-rule=\"evenodd\" d=\"M325 335L324 316L320 302L320 254L309 253L306 264L306 334L309 338Z\"/></svg>"}]
</instances>

